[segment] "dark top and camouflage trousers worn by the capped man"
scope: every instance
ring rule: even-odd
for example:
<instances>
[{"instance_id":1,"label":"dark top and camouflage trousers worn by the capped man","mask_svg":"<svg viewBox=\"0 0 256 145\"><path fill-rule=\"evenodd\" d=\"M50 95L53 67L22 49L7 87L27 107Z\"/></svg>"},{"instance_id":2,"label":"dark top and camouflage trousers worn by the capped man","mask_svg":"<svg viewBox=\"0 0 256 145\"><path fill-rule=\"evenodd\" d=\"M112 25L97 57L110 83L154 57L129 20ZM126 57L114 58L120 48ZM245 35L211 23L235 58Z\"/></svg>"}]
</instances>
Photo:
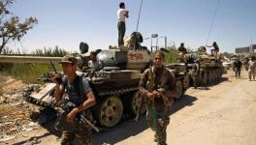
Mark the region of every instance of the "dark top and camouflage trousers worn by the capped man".
<instances>
[{"instance_id":1,"label":"dark top and camouflage trousers worn by the capped man","mask_svg":"<svg viewBox=\"0 0 256 145\"><path fill-rule=\"evenodd\" d=\"M88 81L85 77L80 78L81 76L77 76L74 84L69 84L68 80L63 79L63 87L65 88L65 92L67 93L69 100L79 106L83 101L81 96L87 94L91 91L91 88L88 84ZM78 84L82 81L82 91L80 91L80 87ZM75 85L77 84L77 85ZM80 95L82 93L83 95ZM82 112L83 116L85 116L89 121L93 122L93 117L90 110L86 109ZM69 123L66 121L66 116L68 112L65 112L61 115L61 121L63 122L62 128L62 136L61 136L61 144L62 145L70 145L73 144L73 140L78 137L80 140L80 144L91 145L92 144L92 131L91 127L87 124L79 124L79 123Z\"/></svg>"}]
</instances>

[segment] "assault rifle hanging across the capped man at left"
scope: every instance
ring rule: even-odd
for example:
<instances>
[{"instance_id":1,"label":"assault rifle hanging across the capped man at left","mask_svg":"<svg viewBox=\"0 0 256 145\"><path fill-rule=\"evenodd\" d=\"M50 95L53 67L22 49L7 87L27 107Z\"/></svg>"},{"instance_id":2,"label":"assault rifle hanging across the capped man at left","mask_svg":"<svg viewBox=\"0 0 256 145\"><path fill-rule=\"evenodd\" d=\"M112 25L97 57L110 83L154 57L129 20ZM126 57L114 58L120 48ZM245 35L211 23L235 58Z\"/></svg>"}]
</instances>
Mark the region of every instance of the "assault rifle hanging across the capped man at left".
<instances>
[{"instance_id":1,"label":"assault rifle hanging across the capped man at left","mask_svg":"<svg viewBox=\"0 0 256 145\"><path fill-rule=\"evenodd\" d=\"M55 124L55 128L57 130L60 130L59 128L61 128L63 122L62 120L62 115L65 112L70 112L74 107L76 107L76 104L73 102L69 101L68 97L64 97L64 99L62 99L62 101L59 103L59 105L57 107L54 107L55 110L57 110L58 113L58 118L57 118L57 122ZM66 116L64 116L66 119ZM87 118L85 118L81 113L77 114L76 118L75 118L75 122L79 123L79 124L87 124L89 125L93 130L95 131L99 131L99 129L97 127L95 127Z\"/></svg>"}]
</instances>

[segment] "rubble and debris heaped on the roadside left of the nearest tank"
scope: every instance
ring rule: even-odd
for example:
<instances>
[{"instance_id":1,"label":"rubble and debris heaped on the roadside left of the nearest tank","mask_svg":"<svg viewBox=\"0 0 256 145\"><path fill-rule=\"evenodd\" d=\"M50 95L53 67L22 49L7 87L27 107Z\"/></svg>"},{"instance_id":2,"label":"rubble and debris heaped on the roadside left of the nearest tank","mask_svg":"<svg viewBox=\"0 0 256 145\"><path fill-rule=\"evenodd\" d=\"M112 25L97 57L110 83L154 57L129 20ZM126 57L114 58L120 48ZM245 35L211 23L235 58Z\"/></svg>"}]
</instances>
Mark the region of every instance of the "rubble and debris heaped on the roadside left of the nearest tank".
<instances>
[{"instance_id":1,"label":"rubble and debris heaped on the roadside left of the nearest tank","mask_svg":"<svg viewBox=\"0 0 256 145\"><path fill-rule=\"evenodd\" d=\"M31 120L31 114L39 108L25 102L24 96L39 87L39 84L29 84L0 96L0 142L14 139L18 132L38 129L38 124Z\"/></svg>"}]
</instances>

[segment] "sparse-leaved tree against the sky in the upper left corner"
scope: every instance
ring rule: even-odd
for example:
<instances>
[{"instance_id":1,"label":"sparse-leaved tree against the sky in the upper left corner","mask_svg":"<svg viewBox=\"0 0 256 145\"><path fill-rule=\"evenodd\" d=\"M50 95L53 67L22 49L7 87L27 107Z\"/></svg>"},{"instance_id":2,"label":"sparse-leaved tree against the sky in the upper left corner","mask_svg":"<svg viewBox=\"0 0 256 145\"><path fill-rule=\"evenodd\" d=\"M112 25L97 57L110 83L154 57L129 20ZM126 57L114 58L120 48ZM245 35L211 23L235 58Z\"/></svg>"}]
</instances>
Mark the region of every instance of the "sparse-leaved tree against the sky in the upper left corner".
<instances>
[{"instance_id":1,"label":"sparse-leaved tree against the sky in the upper left corner","mask_svg":"<svg viewBox=\"0 0 256 145\"><path fill-rule=\"evenodd\" d=\"M10 41L20 41L20 39L38 23L36 17L28 17L20 22L18 16L8 11L8 6L13 4L14 0L0 1L0 54Z\"/></svg>"}]
</instances>

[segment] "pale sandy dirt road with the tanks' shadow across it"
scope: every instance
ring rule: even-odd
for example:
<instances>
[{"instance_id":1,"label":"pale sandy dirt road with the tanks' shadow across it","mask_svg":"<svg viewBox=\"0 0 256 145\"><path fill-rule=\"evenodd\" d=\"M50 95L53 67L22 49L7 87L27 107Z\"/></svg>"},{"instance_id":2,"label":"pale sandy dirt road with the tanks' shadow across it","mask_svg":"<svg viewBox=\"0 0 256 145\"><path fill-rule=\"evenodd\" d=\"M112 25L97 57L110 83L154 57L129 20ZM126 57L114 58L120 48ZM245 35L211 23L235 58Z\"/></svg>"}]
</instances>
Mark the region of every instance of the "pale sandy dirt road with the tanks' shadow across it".
<instances>
[{"instance_id":1,"label":"pale sandy dirt road with the tanks' shadow across it","mask_svg":"<svg viewBox=\"0 0 256 145\"><path fill-rule=\"evenodd\" d=\"M168 126L167 143L173 145L254 145L256 141L256 81L242 72L237 79L229 72L218 84L189 89L176 101ZM60 144L60 132L52 126L16 133L3 144ZM93 144L155 144L153 131L133 120L111 131L94 133ZM2 143L0 143L2 144Z\"/></svg>"}]
</instances>

